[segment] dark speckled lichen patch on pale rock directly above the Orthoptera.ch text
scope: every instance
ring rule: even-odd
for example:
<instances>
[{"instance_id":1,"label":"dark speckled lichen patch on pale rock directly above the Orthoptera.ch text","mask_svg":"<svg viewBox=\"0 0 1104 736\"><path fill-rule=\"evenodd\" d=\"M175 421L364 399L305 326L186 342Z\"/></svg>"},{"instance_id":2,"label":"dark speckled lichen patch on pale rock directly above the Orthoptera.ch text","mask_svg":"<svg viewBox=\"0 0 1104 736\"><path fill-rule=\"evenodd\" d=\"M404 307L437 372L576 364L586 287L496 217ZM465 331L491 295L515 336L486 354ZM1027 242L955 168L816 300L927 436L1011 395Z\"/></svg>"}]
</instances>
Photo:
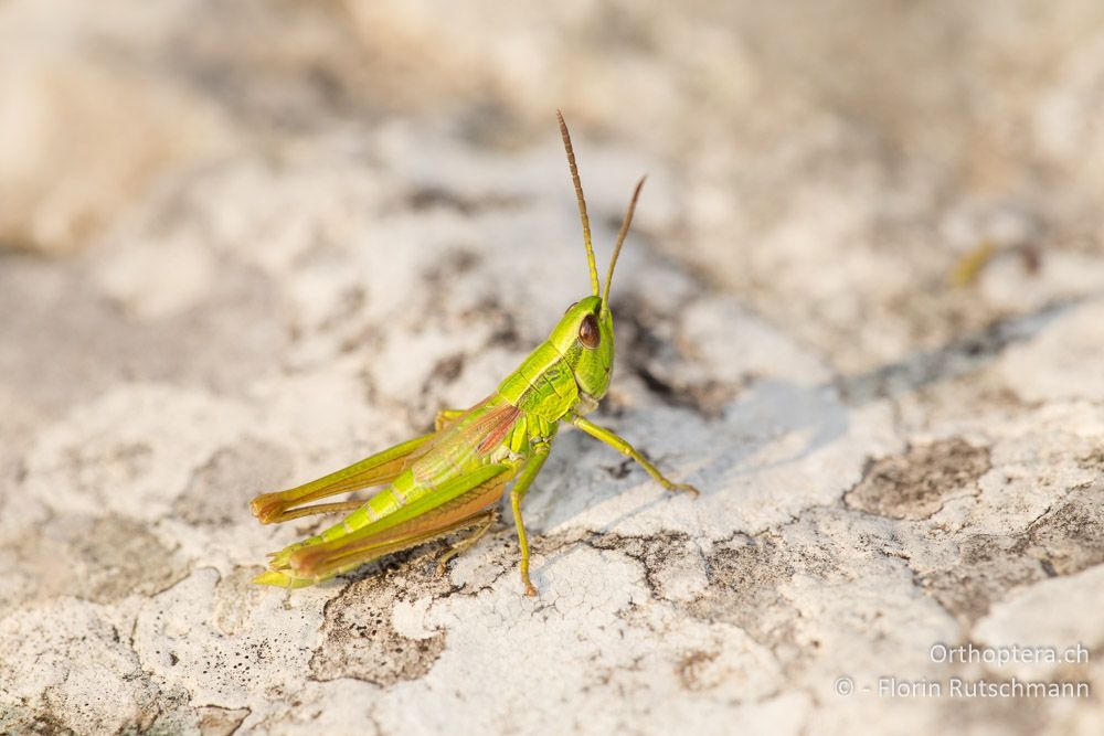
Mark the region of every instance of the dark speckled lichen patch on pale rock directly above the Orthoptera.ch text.
<instances>
[{"instance_id":1,"label":"dark speckled lichen patch on pale rock directly above the Orthoptera.ch text","mask_svg":"<svg viewBox=\"0 0 1104 736\"><path fill-rule=\"evenodd\" d=\"M965 625L989 612L1009 590L1047 577L1043 566L1023 554L1025 541L1009 536L968 537L959 563L920 576L921 586Z\"/></svg>"}]
</instances>

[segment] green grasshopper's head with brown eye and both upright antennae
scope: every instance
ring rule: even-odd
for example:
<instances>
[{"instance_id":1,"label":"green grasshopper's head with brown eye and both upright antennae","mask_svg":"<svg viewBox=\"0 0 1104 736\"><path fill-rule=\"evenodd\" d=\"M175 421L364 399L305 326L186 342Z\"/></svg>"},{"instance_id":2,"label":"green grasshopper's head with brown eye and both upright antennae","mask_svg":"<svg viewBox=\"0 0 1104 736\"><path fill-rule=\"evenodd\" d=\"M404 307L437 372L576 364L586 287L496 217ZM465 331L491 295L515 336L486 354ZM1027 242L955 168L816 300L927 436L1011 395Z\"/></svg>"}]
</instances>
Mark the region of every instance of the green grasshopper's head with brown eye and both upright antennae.
<instances>
[{"instance_id":1,"label":"green grasshopper's head with brown eye and both upright antennae","mask_svg":"<svg viewBox=\"0 0 1104 736\"><path fill-rule=\"evenodd\" d=\"M598 399L606 395L609 377L614 367L614 316L609 311L609 285L614 278L614 266L620 255L622 245L633 222L633 211L636 200L640 196L644 179L637 182L633 199L629 202L625 220L622 221L617 234L617 245L614 246L613 258L609 259L609 270L606 271L605 291L598 296L598 268L594 263L594 246L591 245L591 221L586 216L586 200L583 199L583 185L578 181L578 169L575 166L575 153L571 148L571 136L563 121L563 115L556 110L560 120L560 135L567 152L567 168L571 170L571 181L575 185L575 200L578 202L578 217L583 222L583 245L586 247L586 262L591 270L592 296L580 299L564 313L563 319L552 331L549 342L555 345L564 356L575 376L582 402L576 410L580 414L597 406Z\"/></svg>"}]
</instances>

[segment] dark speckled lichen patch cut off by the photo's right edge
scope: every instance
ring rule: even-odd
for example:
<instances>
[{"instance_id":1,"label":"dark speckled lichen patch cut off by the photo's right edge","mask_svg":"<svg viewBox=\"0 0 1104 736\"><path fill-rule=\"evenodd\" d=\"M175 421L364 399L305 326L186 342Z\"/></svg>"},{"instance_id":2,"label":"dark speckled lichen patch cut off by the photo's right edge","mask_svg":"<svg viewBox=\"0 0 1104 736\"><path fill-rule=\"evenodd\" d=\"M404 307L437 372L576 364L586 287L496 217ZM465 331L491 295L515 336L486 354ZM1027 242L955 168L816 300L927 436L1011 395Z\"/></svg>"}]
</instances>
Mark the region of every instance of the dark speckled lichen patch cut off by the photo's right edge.
<instances>
[{"instance_id":1,"label":"dark speckled lichen patch cut off by the photo's right edge","mask_svg":"<svg viewBox=\"0 0 1104 736\"><path fill-rule=\"evenodd\" d=\"M1027 554L1054 575L1104 563L1104 483L1075 488L1028 531Z\"/></svg>"}]
</instances>

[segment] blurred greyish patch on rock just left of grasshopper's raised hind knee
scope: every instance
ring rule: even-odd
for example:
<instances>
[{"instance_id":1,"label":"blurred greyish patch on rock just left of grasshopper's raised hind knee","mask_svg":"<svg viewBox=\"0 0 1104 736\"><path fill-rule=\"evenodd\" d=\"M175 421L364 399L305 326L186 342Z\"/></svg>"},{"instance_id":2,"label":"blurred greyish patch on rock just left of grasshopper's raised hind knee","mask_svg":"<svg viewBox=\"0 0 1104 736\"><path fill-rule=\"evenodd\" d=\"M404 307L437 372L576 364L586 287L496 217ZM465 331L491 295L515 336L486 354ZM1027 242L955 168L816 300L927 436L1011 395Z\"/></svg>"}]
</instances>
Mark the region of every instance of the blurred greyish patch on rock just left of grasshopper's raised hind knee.
<instances>
[{"instance_id":1,"label":"blurred greyish patch on rock just left of grasshopper's raised hind knee","mask_svg":"<svg viewBox=\"0 0 1104 736\"><path fill-rule=\"evenodd\" d=\"M285 448L246 437L217 450L192 474L173 515L192 524L238 523L250 499L285 486L291 471L291 454Z\"/></svg>"}]
</instances>

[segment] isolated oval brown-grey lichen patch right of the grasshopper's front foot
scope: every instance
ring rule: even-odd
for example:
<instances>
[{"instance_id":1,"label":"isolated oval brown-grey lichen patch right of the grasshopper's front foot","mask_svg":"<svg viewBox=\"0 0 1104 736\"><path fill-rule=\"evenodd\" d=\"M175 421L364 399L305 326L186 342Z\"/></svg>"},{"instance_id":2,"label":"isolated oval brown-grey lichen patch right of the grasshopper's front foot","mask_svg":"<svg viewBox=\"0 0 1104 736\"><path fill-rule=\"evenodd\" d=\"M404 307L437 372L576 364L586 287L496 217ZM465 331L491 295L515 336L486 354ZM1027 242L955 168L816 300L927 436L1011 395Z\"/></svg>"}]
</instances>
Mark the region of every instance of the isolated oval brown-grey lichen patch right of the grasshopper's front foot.
<instances>
[{"instance_id":1,"label":"isolated oval brown-grey lichen patch right of the grasshopper's front foot","mask_svg":"<svg viewBox=\"0 0 1104 736\"><path fill-rule=\"evenodd\" d=\"M890 519L928 519L948 499L975 491L990 467L988 448L959 438L911 447L904 455L869 463L843 501Z\"/></svg>"}]
</instances>

